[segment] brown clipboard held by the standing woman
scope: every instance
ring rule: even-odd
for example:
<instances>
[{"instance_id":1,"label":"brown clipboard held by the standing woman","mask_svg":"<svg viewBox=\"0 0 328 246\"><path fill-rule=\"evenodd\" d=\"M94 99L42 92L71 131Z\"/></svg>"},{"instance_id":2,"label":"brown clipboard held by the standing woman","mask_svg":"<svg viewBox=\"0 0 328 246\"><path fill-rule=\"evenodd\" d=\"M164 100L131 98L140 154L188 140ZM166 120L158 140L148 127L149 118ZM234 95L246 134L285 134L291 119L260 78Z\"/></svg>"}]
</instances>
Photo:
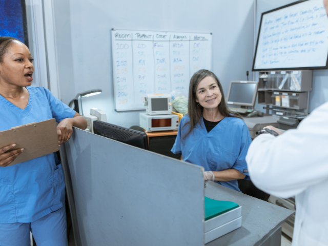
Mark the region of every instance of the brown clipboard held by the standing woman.
<instances>
[{"instance_id":1,"label":"brown clipboard held by the standing woman","mask_svg":"<svg viewBox=\"0 0 328 246\"><path fill-rule=\"evenodd\" d=\"M0 148L11 144L16 144L14 149L24 148L24 152L8 166L58 151L56 120L33 122L0 132Z\"/></svg>"}]
</instances>

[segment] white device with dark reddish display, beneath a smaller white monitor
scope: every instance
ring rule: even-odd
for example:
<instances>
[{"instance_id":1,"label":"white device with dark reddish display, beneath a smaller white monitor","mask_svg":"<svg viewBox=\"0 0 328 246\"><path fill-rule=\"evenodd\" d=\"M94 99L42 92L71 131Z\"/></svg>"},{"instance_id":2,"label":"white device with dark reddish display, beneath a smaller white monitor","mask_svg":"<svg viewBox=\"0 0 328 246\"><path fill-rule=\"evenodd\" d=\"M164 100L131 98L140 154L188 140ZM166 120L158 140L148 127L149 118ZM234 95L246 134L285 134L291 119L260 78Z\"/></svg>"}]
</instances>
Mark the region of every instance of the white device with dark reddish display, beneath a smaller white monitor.
<instances>
[{"instance_id":1,"label":"white device with dark reddish display, beneath a smaller white monitor","mask_svg":"<svg viewBox=\"0 0 328 246\"><path fill-rule=\"evenodd\" d=\"M175 114L149 115L139 114L140 127L146 132L155 131L177 131L179 127L179 116Z\"/></svg>"}]
</instances>

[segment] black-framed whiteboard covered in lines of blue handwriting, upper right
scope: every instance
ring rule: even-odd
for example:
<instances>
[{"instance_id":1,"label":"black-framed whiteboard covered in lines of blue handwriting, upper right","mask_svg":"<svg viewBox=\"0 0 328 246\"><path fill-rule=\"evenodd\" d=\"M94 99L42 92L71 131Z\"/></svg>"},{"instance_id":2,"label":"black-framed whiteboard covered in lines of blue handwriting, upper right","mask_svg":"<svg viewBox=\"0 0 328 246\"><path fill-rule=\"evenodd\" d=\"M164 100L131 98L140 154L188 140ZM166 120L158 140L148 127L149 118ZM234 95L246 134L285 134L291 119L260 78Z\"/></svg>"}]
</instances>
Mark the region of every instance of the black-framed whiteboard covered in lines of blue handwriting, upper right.
<instances>
[{"instance_id":1,"label":"black-framed whiteboard covered in lines of blue handwriting, upper right","mask_svg":"<svg viewBox=\"0 0 328 246\"><path fill-rule=\"evenodd\" d=\"M325 69L328 18L322 0L262 13L253 70Z\"/></svg>"}]
</instances>

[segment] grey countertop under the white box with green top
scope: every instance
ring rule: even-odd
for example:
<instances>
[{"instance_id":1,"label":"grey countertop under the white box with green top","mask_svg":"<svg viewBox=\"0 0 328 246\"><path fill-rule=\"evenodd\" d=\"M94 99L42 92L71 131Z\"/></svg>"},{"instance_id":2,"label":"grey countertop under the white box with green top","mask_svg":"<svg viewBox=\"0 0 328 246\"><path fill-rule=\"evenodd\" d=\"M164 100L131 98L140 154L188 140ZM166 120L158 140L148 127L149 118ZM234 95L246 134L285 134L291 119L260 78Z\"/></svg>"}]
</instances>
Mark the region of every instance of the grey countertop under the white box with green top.
<instances>
[{"instance_id":1,"label":"grey countertop under the white box with green top","mask_svg":"<svg viewBox=\"0 0 328 246\"><path fill-rule=\"evenodd\" d=\"M259 245L294 214L292 210L242 194L212 181L206 183L205 196L216 200L233 201L242 207L241 227L207 243L207 246Z\"/></svg>"}]
</instances>

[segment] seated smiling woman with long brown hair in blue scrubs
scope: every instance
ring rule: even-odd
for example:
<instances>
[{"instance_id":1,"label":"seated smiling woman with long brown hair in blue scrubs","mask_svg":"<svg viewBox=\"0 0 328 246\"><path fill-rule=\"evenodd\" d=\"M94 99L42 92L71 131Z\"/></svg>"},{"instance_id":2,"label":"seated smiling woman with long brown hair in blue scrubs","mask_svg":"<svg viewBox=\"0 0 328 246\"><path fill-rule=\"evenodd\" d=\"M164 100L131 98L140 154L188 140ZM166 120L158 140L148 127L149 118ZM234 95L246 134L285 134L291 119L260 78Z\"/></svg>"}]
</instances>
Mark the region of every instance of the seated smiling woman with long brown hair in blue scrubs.
<instances>
[{"instance_id":1,"label":"seated smiling woman with long brown hair in blue scrubs","mask_svg":"<svg viewBox=\"0 0 328 246\"><path fill-rule=\"evenodd\" d=\"M245 156L251 141L244 121L228 110L215 74L196 72L190 80L188 114L180 121L171 151L202 166L205 180L240 191L237 179L249 179Z\"/></svg>"}]
</instances>

